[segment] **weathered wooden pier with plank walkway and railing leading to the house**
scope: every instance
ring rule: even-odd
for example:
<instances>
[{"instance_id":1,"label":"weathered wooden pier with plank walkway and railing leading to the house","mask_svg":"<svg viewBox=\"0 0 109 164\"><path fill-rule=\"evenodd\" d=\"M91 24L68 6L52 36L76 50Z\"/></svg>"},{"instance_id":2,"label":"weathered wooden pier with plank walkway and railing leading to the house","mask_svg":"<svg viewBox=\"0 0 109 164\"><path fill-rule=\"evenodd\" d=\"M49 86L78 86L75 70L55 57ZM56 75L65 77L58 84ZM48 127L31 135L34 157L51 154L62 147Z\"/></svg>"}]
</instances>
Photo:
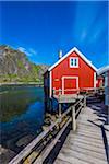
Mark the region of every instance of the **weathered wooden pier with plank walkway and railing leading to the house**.
<instances>
[{"instance_id":1,"label":"weathered wooden pier with plank walkway and railing leading to the house","mask_svg":"<svg viewBox=\"0 0 109 164\"><path fill-rule=\"evenodd\" d=\"M102 117L98 115L99 107L94 110L94 105L86 106L86 95L77 95L75 103L72 103L72 96L68 96L68 99L70 106L62 113L64 96L59 96L59 115L56 120L9 164L107 164L108 130L104 127ZM61 142L60 138L70 125L70 133L56 161L51 162L50 159L45 162L58 142Z\"/></svg>"}]
</instances>

